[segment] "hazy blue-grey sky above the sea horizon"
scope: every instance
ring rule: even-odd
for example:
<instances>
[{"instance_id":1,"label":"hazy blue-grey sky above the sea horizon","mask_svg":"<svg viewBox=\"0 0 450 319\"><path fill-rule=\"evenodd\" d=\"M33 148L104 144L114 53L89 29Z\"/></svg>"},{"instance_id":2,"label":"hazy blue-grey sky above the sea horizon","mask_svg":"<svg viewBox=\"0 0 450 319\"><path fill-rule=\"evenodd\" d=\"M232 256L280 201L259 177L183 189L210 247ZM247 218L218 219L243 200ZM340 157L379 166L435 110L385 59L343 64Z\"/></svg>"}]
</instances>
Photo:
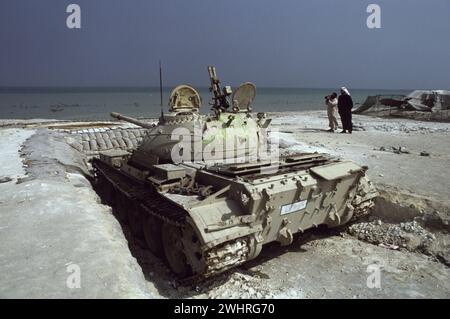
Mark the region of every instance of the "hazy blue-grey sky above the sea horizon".
<instances>
[{"instance_id":1,"label":"hazy blue-grey sky above the sea horizon","mask_svg":"<svg viewBox=\"0 0 450 319\"><path fill-rule=\"evenodd\" d=\"M0 86L450 89L449 38L450 0L1 0Z\"/></svg>"}]
</instances>

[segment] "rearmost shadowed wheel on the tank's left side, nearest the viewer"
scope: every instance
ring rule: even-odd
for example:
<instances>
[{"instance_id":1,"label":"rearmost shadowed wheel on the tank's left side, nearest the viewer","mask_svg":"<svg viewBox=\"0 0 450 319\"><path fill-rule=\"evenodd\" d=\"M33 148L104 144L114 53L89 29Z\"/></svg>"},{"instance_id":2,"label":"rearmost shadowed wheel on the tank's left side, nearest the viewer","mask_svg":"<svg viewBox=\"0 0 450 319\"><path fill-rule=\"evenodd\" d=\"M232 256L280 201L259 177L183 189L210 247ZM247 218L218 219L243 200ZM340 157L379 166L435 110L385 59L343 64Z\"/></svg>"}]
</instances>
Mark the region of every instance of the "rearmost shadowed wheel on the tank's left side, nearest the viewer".
<instances>
[{"instance_id":1,"label":"rearmost shadowed wheel on the tank's left side, nearest the viewer","mask_svg":"<svg viewBox=\"0 0 450 319\"><path fill-rule=\"evenodd\" d=\"M179 277L192 274L191 267L184 254L183 232L180 227L164 224L162 227L162 242L164 255L170 269Z\"/></svg>"}]
</instances>

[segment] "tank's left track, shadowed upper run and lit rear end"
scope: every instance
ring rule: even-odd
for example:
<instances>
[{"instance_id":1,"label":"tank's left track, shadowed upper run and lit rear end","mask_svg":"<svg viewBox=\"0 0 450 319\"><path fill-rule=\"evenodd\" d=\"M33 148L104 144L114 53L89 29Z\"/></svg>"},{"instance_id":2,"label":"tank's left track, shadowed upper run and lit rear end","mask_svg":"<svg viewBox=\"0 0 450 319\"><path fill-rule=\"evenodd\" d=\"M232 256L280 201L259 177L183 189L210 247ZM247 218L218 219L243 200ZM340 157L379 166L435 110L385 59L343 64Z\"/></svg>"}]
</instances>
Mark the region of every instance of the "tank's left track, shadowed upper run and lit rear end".
<instances>
[{"instance_id":1,"label":"tank's left track, shadowed upper run and lit rear end","mask_svg":"<svg viewBox=\"0 0 450 319\"><path fill-rule=\"evenodd\" d=\"M138 206L143 211L164 223L181 228L191 227L188 224L188 215L184 209L169 202L156 190L150 189L148 185L139 184L131 178L123 176L122 173L107 166L98 159L94 160L93 166L96 175L104 177L110 186L127 197L130 204L138 203ZM179 283L182 285L194 284L210 276L234 268L248 259L248 252L248 238L238 238L210 248L203 252L204 271L187 278L182 278L179 280Z\"/></svg>"}]
</instances>

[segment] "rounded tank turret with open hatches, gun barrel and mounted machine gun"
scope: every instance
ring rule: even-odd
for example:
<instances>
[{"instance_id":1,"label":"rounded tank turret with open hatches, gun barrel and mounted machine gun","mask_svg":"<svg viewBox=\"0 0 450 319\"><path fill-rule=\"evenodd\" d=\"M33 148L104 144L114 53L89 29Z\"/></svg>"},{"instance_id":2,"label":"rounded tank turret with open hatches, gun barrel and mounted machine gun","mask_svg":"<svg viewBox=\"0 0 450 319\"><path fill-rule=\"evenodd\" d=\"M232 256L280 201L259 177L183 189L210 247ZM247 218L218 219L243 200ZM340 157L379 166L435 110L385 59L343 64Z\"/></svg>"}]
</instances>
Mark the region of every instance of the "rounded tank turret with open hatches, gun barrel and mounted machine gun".
<instances>
[{"instance_id":1,"label":"rounded tank turret with open hatches, gun barrel and mounted machine gun","mask_svg":"<svg viewBox=\"0 0 450 319\"><path fill-rule=\"evenodd\" d=\"M131 156L132 162L150 168L155 158L158 163L176 164L199 161L214 164L250 155L257 160L258 150L266 142L270 120L262 114L254 117L250 112L256 96L255 85L244 83L232 95L231 87L220 88L214 67L208 67L208 72L212 114L200 113L200 94L185 84L172 90L169 112L161 114L156 125L111 113L119 120L149 128L146 138ZM230 96L233 102L229 101Z\"/></svg>"}]
</instances>

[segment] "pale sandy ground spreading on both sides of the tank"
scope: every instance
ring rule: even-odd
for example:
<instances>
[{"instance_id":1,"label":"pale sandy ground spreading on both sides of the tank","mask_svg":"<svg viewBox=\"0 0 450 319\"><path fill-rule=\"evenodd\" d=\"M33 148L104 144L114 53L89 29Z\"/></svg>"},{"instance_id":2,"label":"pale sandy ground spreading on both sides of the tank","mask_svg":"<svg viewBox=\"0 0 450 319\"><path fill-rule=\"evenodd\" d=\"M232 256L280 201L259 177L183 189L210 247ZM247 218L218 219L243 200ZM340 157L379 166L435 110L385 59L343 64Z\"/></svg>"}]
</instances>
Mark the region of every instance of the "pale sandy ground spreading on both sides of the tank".
<instances>
[{"instance_id":1,"label":"pale sandy ground spreading on both sides of the tank","mask_svg":"<svg viewBox=\"0 0 450 319\"><path fill-rule=\"evenodd\" d=\"M325 132L325 112L278 113L273 121L284 152L326 152L369 166L383 198L395 202L380 202L373 220L364 221L380 223L373 233L389 222L408 226L432 216L433 227L421 225L426 236L439 239L432 240L439 242L436 254L410 242L393 247L380 245L376 236L360 240L366 229L361 223L352 227L362 232L352 235L347 229L314 230L288 248L269 244L242 267L178 287L163 262L99 203L82 175L84 159L60 133L36 122L32 129L14 128L9 121L0 129L0 146L7 150L0 156L0 178L11 178L0 183L0 297L449 298L450 124L364 116L354 123L358 130L349 135ZM67 287L71 264L81 268L79 289ZM367 284L374 269L380 275L376 287Z\"/></svg>"}]
</instances>

